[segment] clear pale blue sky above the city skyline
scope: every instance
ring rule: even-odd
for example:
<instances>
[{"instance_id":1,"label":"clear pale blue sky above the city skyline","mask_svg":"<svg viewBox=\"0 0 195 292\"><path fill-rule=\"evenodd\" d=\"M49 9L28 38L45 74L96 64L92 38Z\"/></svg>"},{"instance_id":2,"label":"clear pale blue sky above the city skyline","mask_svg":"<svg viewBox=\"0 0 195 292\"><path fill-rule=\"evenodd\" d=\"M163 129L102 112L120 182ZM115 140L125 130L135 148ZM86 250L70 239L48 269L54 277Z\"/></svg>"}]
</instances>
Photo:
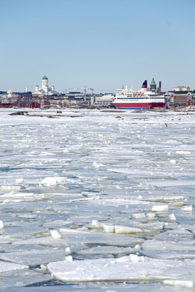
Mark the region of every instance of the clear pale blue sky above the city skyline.
<instances>
[{"instance_id":1,"label":"clear pale blue sky above the city skyline","mask_svg":"<svg viewBox=\"0 0 195 292\"><path fill-rule=\"evenodd\" d=\"M195 89L195 0L0 0L0 91ZM79 90L78 90L79 91Z\"/></svg>"}]
</instances>

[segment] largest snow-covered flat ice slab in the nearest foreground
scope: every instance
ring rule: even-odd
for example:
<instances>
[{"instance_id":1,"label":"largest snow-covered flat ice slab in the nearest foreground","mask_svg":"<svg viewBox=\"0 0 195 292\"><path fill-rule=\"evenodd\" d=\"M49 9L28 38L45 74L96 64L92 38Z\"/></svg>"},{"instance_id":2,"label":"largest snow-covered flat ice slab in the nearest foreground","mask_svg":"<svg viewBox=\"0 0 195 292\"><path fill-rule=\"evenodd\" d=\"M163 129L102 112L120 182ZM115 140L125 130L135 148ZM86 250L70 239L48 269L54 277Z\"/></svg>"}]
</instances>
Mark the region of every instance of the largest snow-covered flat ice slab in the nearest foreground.
<instances>
[{"instance_id":1,"label":"largest snow-covered flat ice slab in the nearest foreground","mask_svg":"<svg viewBox=\"0 0 195 292\"><path fill-rule=\"evenodd\" d=\"M115 260L64 260L47 265L55 278L65 282L165 280L181 277L194 268L195 263L157 259L135 263L129 257ZM148 276L141 274L141 270L148 270Z\"/></svg>"}]
</instances>

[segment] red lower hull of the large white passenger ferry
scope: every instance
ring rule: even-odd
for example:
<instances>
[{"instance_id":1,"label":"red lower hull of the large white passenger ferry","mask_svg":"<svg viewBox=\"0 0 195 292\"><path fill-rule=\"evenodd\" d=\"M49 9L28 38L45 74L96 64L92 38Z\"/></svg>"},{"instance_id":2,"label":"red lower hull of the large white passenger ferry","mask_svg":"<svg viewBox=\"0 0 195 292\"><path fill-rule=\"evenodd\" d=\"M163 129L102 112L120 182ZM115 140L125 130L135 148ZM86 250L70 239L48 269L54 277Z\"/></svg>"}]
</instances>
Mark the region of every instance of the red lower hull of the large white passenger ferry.
<instances>
[{"instance_id":1,"label":"red lower hull of the large white passenger ferry","mask_svg":"<svg viewBox=\"0 0 195 292\"><path fill-rule=\"evenodd\" d=\"M113 102L113 104L118 107L119 109L149 109L153 107L165 107L164 102L151 102L151 103L137 103L137 102L127 102L127 103L120 103L120 102Z\"/></svg>"}]
</instances>

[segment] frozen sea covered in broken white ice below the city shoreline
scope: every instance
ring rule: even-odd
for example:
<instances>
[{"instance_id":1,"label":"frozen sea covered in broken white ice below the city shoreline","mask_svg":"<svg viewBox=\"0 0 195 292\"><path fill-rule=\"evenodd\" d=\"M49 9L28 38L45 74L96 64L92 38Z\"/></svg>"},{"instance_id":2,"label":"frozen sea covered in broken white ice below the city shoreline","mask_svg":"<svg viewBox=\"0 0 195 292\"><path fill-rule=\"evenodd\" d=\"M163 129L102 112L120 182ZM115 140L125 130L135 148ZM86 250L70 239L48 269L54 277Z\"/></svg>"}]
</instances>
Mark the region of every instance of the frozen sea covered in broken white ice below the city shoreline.
<instances>
[{"instance_id":1,"label":"frozen sea covered in broken white ice below the city shoreline","mask_svg":"<svg viewBox=\"0 0 195 292\"><path fill-rule=\"evenodd\" d=\"M194 111L14 111L0 109L0 291L195 290Z\"/></svg>"}]
</instances>

